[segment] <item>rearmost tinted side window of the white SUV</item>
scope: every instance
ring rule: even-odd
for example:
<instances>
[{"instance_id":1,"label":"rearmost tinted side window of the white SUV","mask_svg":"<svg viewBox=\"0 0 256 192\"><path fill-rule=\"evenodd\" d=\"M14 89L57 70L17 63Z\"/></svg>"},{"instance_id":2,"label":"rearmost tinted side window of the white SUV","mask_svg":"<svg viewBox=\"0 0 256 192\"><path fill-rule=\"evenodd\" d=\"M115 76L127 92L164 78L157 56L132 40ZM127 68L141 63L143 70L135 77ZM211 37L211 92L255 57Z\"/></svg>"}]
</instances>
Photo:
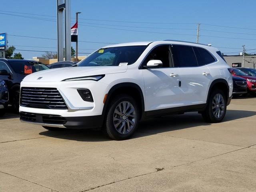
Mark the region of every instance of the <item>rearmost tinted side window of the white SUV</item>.
<instances>
[{"instance_id":1,"label":"rearmost tinted side window of the white SUV","mask_svg":"<svg viewBox=\"0 0 256 192\"><path fill-rule=\"evenodd\" d=\"M206 65L215 61L213 56L205 49L199 47L193 47L196 54L198 66Z\"/></svg>"}]
</instances>

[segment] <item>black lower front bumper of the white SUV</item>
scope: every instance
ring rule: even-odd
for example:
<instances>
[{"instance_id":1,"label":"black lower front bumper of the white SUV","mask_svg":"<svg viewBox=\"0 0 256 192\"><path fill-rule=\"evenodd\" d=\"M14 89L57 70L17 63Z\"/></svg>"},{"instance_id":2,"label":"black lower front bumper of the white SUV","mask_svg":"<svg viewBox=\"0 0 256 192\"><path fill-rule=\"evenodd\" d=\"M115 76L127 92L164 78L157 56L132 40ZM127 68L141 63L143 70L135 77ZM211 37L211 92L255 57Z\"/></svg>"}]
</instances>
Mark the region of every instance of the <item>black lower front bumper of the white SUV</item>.
<instances>
[{"instance_id":1,"label":"black lower front bumper of the white SUV","mask_svg":"<svg viewBox=\"0 0 256 192\"><path fill-rule=\"evenodd\" d=\"M103 125L103 119L103 115L62 117L59 115L20 112L21 122L58 128L100 128Z\"/></svg>"}]
</instances>

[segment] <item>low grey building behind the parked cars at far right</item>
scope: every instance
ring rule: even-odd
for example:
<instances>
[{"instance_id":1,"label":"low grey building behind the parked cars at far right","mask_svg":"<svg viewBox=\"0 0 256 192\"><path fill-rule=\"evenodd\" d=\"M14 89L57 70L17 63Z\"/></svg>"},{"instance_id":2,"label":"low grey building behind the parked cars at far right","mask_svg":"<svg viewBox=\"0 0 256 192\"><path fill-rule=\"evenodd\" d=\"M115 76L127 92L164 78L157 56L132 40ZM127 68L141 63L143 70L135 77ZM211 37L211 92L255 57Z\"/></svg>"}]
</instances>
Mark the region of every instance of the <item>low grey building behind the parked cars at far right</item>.
<instances>
[{"instance_id":1,"label":"low grey building behind the parked cars at far right","mask_svg":"<svg viewBox=\"0 0 256 192\"><path fill-rule=\"evenodd\" d=\"M230 67L242 67L243 56L223 56ZM244 56L244 67L256 68L256 55Z\"/></svg>"}]
</instances>

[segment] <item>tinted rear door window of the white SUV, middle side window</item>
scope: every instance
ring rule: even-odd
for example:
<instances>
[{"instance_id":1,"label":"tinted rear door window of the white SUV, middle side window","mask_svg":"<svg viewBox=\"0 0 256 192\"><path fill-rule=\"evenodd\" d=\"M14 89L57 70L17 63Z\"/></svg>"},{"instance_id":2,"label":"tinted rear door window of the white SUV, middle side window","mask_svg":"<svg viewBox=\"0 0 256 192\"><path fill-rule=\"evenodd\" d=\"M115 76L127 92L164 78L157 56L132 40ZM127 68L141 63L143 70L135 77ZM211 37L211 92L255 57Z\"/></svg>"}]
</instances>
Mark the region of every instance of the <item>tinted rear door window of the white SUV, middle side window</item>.
<instances>
[{"instance_id":1,"label":"tinted rear door window of the white SUV, middle side window","mask_svg":"<svg viewBox=\"0 0 256 192\"><path fill-rule=\"evenodd\" d=\"M196 56L191 46L172 45L174 67L195 67Z\"/></svg>"}]
</instances>

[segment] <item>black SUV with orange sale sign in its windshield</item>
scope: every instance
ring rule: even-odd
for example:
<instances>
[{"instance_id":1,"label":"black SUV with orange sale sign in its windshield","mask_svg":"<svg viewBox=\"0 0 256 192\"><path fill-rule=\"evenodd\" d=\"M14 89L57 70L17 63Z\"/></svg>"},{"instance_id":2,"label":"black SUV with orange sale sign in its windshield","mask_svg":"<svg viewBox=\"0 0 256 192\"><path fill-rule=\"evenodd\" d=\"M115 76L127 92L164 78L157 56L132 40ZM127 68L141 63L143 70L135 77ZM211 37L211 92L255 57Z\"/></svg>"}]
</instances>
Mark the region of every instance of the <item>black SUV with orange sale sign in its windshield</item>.
<instances>
[{"instance_id":1,"label":"black SUV with orange sale sign in its windshield","mask_svg":"<svg viewBox=\"0 0 256 192\"><path fill-rule=\"evenodd\" d=\"M16 112L19 110L20 82L28 74L49 69L34 60L0 58L0 79L6 82L9 90L10 104Z\"/></svg>"}]
</instances>

